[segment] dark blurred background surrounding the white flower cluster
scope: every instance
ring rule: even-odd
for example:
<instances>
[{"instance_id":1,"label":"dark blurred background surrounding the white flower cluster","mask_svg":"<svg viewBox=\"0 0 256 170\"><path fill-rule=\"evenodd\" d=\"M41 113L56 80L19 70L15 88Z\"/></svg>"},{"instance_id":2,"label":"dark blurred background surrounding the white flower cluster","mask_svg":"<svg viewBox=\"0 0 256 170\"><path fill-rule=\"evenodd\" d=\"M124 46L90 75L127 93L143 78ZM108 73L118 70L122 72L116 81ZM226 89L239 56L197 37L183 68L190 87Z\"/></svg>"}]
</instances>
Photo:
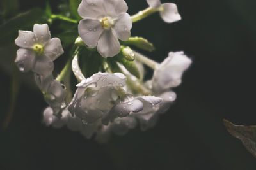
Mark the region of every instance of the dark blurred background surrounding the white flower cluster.
<instances>
[{"instance_id":1,"label":"dark blurred background surrounding the white flower cluster","mask_svg":"<svg viewBox=\"0 0 256 170\"><path fill-rule=\"evenodd\" d=\"M21 11L44 8L43 0L19 2ZM166 24L156 14L132 29L133 36L154 43L157 50L148 55L159 62L170 50L184 50L193 59L175 89L176 103L156 127L113 136L103 145L66 128L45 127L42 111L47 105L39 90L22 81L12 122L0 130L0 169L255 170L255 158L228 134L222 120L256 125L256 1L173 2L180 22ZM130 14L147 7L145 0L127 4ZM3 53L6 46L0 46L0 57L14 59L16 48ZM0 72L1 121L10 104L6 69Z\"/></svg>"}]
</instances>

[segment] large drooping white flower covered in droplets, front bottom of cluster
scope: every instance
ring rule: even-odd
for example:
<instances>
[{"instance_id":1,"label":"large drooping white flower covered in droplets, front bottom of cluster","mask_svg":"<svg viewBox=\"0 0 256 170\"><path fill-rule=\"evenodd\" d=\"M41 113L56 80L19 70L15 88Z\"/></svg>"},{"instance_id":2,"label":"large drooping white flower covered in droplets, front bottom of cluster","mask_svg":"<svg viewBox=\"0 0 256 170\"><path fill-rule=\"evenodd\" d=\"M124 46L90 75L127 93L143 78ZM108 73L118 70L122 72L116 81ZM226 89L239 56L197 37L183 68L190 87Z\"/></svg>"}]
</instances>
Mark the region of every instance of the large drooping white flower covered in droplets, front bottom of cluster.
<instances>
[{"instance_id":1,"label":"large drooping white flower covered in droplets, front bottom of cluster","mask_svg":"<svg viewBox=\"0 0 256 170\"><path fill-rule=\"evenodd\" d=\"M121 73L97 73L79 83L76 94L68 107L72 115L84 124L97 122L108 113L120 97L126 77Z\"/></svg>"}]
</instances>

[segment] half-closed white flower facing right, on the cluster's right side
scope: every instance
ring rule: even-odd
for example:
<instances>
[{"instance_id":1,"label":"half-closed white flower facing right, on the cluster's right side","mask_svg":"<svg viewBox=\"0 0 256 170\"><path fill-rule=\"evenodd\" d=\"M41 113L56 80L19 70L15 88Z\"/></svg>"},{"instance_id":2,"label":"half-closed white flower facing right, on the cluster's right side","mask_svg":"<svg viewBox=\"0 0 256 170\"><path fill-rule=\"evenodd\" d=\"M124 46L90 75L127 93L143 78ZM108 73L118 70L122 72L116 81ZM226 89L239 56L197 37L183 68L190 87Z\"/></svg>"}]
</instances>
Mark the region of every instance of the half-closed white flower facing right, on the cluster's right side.
<instances>
[{"instance_id":1,"label":"half-closed white flower facing right, on the cluster's right side","mask_svg":"<svg viewBox=\"0 0 256 170\"><path fill-rule=\"evenodd\" d=\"M188 69L191 62L184 52L170 52L154 71L152 90L156 94L161 94L171 87L180 85L182 74Z\"/></svg>"}]
</instances>

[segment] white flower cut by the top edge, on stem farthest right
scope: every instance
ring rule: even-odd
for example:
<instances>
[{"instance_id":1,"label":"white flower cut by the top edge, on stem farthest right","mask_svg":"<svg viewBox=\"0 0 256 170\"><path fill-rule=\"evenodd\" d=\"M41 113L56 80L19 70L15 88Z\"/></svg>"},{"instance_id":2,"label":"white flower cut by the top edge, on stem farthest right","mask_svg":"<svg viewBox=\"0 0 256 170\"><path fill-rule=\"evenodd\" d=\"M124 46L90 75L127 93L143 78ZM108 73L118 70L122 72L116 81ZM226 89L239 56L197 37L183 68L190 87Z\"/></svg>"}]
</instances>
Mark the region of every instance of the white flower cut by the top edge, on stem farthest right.
<instances>
[{"instance_id":1,"label":"white flower cut by the top edge, on stem farthest right","mask_svg":"<svg viewBox=\"0 0 256 170\"><path fill-rule=\"evenodd\" d=\"M147 0L147 3L150 7L159 9L160 16L164 22L172 23L181 20L176 4L161 4L160 0Z\"/></svg>"}]
</instances>

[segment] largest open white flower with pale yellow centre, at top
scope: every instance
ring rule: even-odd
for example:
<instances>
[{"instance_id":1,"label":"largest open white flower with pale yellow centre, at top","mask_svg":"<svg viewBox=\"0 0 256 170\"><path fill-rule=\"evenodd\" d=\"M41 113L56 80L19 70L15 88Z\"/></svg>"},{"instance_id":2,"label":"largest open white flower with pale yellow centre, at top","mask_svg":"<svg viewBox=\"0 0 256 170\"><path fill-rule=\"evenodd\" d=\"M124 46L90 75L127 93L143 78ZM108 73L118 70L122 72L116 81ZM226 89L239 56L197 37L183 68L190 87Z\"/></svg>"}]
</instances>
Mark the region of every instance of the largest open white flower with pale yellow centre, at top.
<instances>
[{"instance_id":1,"label":"largest open white flower with pale yellow centre, at top","mask_svg":"<svg viewBox=\"0 0 256 170\"><path fill-rule=\"evenodd\" d=\"M78 32L84 43L95 48L102 57L113 57L120 52L118 39L127 41L132 20L124 0L83 0L78 8L83 18Z\"/></svg>"}]
</instances>

